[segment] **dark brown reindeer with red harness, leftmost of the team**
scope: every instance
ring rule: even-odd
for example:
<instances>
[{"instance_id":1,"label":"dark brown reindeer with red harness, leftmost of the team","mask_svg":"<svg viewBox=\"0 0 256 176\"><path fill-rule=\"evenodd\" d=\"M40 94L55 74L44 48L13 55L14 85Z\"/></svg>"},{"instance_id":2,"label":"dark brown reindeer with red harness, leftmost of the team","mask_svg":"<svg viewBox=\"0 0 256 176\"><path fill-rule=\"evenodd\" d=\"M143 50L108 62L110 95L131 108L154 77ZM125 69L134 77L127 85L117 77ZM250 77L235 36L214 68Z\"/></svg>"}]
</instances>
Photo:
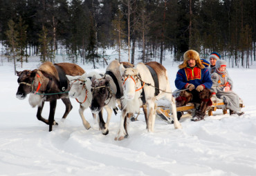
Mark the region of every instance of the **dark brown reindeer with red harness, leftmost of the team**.
<instances>
[{"instance_id":1,"label":"dark brown reindeer with red harness, leftmost of the team","mask_svg":"<svg viewBox=\"0 0 256 176\"><path fill-rule=\"evenodd\" d=\"M37 106L37 119L49 125L49 131L53 130L57 99L62 99L66 111L62 117L65 119L73 108L68 98L68 79L66 75L82 75L84 70L74 63L51 63L46 61L35 70L17 71L19 87L16 93L18 99L29 96L29 104L34 108ZM50 114L48 119L42 117L44 101L50 102Z\"/></svg>"}]
</instances>

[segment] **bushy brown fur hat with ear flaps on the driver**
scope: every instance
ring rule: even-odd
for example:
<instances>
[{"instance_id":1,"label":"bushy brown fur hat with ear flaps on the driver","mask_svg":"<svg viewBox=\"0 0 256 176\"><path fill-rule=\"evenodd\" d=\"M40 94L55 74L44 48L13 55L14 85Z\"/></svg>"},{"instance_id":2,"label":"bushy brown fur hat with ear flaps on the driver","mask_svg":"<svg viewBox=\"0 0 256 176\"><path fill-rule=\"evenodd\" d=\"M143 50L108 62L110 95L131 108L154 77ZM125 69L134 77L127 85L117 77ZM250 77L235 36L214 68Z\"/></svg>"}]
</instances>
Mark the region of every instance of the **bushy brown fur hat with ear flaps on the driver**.
<instances>
[{"instance_id":1,"label":"bushy brown fur hat with ear flaps on the driver","mask_svg":"<svg viewBox=\"0 0 256 176\"><path fill-rule=\"evenodd\" d=\"M203 66L203 64L201 63L201 59L199 57L199 53L196 52L195 50L188 50L184 53L183 55L183 63L181 63L181 65L179 65L179 68L185 68L188 66L188 60L190 59L194 59L196 60L196 66L198 66L199 68L205 68L205 66Z\"/></svg>"}]
</instances>

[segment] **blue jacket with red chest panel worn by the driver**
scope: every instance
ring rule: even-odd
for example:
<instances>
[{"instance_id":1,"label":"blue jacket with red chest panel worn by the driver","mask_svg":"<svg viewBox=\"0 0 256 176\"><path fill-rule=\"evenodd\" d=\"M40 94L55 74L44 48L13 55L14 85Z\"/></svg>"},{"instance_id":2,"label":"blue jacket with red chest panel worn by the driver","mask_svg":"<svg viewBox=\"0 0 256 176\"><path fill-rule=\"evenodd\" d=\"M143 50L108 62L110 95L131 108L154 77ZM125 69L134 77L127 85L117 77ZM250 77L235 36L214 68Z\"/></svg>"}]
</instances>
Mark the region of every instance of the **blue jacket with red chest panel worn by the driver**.
<instances>
[{"instance_id":1,"label":"blue jacket with red chest panel worn by the driver","mask_svg":"<svg viewBox=\"0 0 256 176\"><path fill-rule=\"evenodd\" d=\"M175 86L178 89L185 89L188 84L194 84L195 87L202 85L204 88L212 87L212 80L210 79L210 72L207 68L186 67L178 70Z\"/></svg>"}]
</instances>

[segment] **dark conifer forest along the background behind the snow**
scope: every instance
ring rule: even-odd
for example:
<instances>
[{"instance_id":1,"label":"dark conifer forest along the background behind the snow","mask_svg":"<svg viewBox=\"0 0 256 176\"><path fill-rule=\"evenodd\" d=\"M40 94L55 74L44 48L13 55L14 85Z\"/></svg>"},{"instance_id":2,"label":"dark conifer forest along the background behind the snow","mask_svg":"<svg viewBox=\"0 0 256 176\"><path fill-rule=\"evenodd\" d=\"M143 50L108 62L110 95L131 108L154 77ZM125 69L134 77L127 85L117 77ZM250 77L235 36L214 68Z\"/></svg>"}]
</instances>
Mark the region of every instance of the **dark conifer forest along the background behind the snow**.
<instances>
[{"instance_id":1,"label":"dark conifer forest along the background behind the snow","mask_svg":"<svg viewBox=\"0 0 256 176\"><path fill-rule=\"evenodd\" d=\"M115 48L128 60L162 63L166 51L181 61L186 50L203 59L221 53L232 67L255 61L255 0L0 0L1 56L9 61L77 63L107 58ZM136 58L135 48L140 55ZM107 60L106 60L107 62Z\"/></svg>"}]
</instances>

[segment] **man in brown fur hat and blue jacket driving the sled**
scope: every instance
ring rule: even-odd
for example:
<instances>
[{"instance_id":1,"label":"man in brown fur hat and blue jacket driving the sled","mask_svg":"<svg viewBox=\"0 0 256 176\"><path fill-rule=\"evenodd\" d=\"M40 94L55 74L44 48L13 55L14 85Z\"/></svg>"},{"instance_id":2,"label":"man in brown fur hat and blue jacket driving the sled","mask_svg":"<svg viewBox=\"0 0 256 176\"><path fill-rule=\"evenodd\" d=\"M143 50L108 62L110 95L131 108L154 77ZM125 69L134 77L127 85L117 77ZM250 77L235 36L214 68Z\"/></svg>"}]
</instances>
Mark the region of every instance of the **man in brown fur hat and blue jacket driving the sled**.
<instances>
[{"instance_id":1,"label":"man in brown fur hat and blue jacket driving the sled","mask_svg":"<svg viewBox=\"0 0 256 176\"><path fill-rule=\"evenodd\" d=\"M201 100L199 98L199 92L212 87L210 72L203 66L199 53L195 50L186 51L183 55L183 59L183 63L179 65L179 70L176 75L175 86L179 90L188 89L188 91L192 93L193 99ZM210 97L208 97L208 99L210 99ZM204 115L205 112L202 113L199 107L196 109L192 121L199 121L204 118ZM179 116L181 116L180 112L178 113L178 117Z\"/></svg>"}]
</instances>

